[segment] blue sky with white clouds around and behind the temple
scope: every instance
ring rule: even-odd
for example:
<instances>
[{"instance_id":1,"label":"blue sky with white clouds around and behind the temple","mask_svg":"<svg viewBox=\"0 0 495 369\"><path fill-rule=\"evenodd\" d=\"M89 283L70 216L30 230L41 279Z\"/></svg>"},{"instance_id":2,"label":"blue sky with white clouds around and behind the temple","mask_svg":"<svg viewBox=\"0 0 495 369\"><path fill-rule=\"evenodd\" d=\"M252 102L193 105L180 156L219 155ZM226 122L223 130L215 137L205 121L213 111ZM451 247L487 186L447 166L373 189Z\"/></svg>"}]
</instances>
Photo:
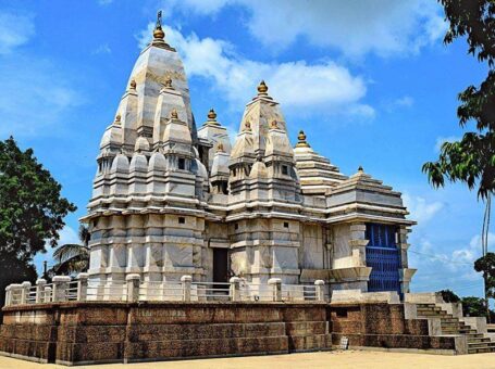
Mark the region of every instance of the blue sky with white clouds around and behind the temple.
<instances>
[{"instance_id":1,"label":"blue sky with white clouds around and behind the temple","mask_svg":"<svg viewBox=\"0 0 495 369\"><path fill-rule=\"evenodd\" d=\"M304 129L344 174L362 165L403 192L418 221L412 292L482 294L472 263L483 203L462 184L433 189L421 166L462 136L457 96L486 67L465 40L443 43L447 25L433 0L0 0L0 139L33 148L77 205L61 243L77 241L101 135L158 10L184 61L198 127L214 107L235 135L264 79L293 142ZM38 270L51 253L36 256Z\"/></svg>"}]
</instances>

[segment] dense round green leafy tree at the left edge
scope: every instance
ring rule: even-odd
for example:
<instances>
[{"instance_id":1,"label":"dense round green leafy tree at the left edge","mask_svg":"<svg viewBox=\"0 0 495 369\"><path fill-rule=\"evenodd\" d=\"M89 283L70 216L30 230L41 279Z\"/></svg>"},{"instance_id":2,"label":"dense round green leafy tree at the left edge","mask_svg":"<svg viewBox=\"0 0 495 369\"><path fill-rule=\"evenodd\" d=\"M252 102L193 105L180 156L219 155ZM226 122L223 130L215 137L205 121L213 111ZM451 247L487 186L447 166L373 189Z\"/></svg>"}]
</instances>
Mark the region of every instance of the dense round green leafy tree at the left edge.
<instances>
[{"instance_id":1,"label":"dense round green leafy tree at the left edge","mask_svg":"<svg viewBox=\"0 0 495 369\"><path fill-rule=\"evenodd\" d=\"M0 305L10 283L34 281L33 257L55 246L63 218L76 206L38 163L33 150L21 151L11 137L0 141Z\"/></svg>"}]
</instances>

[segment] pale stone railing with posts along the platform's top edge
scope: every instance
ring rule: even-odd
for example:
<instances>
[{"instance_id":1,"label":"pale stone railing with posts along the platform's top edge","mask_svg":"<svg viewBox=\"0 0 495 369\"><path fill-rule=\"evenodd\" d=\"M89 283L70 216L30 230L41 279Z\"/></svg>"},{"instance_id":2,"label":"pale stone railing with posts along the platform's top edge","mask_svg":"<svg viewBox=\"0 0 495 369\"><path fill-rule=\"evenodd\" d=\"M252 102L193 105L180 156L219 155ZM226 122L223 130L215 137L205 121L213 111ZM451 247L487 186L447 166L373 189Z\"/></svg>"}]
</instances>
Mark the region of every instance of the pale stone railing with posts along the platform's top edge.
<instances>
[{"instance_id":1,"label":"pale stone railing with posts along the platform's top edge","mask_svg":"<svg viewBox=\"0 0 495 369\"><path fill-rule=\"evenodd\" d=\"M268 283L251 283L232 277L230 282L195 282L193 277L183 276L181 281L141 281L137 273L127 275L125 281L95 282L87 273L75 280L55 276L52 283L38 279L30 282L10 284L5 288L5 306L29 305L70 301L185 301L185 302L324 302L324 281L314 284L284 284L279 278Z\"/></svg>"}]
</instances>

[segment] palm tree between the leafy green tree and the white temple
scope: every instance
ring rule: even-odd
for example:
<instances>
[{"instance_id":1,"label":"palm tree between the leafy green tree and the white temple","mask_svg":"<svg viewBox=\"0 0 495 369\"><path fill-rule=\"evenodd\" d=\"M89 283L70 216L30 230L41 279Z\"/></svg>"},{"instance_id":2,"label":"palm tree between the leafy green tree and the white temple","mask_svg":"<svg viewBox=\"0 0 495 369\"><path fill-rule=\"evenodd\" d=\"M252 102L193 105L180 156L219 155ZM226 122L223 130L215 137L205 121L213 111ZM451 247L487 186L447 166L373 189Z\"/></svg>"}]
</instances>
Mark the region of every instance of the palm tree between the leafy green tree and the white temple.
<instances>
[{"instance_id":1,"label":"palm tree between the leafy green tree and the white temple","mask_svg":"<svg viewBox=\"0 0 495 369\"><path fill-rule=\"evenodd\" d=\"M53 265L51 273L54 276L72 275L86 271L89 267L89 239L91 234L85 226L79 227L79 240L82 244L66 243L61 245L53 253Z\"/></svg>"}]
</instances>

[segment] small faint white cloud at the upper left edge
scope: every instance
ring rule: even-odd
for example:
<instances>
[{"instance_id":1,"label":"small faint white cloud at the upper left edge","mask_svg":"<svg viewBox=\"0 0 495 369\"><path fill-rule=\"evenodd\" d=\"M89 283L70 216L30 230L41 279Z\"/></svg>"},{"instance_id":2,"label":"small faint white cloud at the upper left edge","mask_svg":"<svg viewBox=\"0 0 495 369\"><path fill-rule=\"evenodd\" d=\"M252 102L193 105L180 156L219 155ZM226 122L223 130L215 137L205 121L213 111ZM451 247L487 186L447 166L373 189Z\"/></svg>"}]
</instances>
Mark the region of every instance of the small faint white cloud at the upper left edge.
<instances>
[{"instance_id":1,"label":"small faint white cloud at the upper left edge","mask_svg":"<svg viewBox=\"0 0 495 369\"><path fill-rule=\"evenodd\" d=\"M33 17L0 12L0 54L9 54L35 35Z\"/></svg>"}]
</instances>

